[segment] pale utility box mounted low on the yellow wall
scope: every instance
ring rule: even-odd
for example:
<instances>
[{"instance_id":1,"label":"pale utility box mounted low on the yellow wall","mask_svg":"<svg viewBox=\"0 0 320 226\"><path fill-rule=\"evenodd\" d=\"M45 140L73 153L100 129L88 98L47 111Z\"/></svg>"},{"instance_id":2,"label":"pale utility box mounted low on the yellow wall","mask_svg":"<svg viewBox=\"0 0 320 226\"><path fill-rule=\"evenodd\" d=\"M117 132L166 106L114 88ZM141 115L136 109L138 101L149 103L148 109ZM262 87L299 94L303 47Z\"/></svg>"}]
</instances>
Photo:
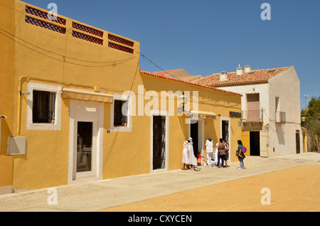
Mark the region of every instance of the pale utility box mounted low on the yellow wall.
<instances>
[{"instance_id":1,"label":"pale utility box mounted low on the yellow wall","mask_svg":"<svg viewBox=\"0 0 320 226\"><path fill-rule=\"evenodd\" d=\"M27 150L27 137L26 136L8 136L6 142L6 155L24 155Z\"/></svg>"}]
</instances>

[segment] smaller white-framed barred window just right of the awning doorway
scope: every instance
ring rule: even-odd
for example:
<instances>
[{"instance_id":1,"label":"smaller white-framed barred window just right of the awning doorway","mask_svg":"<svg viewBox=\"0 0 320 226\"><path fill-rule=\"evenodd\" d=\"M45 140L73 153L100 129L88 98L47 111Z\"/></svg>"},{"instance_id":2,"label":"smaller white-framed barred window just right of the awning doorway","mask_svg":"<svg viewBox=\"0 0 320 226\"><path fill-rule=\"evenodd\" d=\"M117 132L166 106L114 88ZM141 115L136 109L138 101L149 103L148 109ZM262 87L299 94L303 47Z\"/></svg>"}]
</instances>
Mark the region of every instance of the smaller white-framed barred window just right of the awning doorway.
<instances>
[{"instance_id":1,"label":"smaller white-framed barred window just right of the awning doorway","mask_svg":"<svg viewBox=\"0 0 320 226\"><path fill-rule=\"evenodd\" d=\"M110 112L111 131L132 131L131 105L132 97L128 95L113 95Z\"/></svg>"}]
</instances>

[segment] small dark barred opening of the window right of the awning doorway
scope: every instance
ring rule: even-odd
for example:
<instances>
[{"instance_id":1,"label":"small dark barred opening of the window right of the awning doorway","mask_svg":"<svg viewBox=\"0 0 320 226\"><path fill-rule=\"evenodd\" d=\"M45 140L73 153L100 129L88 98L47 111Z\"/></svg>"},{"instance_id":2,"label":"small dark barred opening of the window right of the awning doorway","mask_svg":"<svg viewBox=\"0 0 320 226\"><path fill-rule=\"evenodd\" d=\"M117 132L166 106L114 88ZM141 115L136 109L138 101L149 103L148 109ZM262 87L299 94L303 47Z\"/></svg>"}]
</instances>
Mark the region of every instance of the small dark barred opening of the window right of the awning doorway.
<instances>
[{"instance_id":1,"label":"small dark barred opening of the window right of the awning doorway","mask_svg":"<svg viewBox=\"0 0 320 226\"><path fill-rule=\"evenodd\" d=\"M114 99L114 127L127 127L128 102Z\"/></svg>"}]
</instances>

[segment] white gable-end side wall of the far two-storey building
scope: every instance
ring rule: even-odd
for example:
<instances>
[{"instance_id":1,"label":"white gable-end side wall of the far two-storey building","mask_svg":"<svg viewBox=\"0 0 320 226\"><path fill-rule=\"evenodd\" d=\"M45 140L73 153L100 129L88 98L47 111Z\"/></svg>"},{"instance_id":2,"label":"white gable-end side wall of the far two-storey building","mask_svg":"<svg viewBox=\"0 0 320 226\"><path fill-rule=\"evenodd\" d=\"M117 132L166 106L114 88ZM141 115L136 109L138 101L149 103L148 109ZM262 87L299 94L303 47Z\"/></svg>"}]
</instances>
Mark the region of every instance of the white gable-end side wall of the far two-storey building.
<instances>
[{"instance_id":1,"label":"white gable-end side wall of the far two-storey building","mask_svg":"<svg viewBox=\"0 0 320 226\"><path fill-rule=\"evenodd\" d=\"M300 153L303 152L300 126L300 81L294 67L270 78L270 156L296 153L296 130L300 133ZM279 97L278 109L286 112L286 123L276 124L275 99Z\"/></svg>"}]
</instances>

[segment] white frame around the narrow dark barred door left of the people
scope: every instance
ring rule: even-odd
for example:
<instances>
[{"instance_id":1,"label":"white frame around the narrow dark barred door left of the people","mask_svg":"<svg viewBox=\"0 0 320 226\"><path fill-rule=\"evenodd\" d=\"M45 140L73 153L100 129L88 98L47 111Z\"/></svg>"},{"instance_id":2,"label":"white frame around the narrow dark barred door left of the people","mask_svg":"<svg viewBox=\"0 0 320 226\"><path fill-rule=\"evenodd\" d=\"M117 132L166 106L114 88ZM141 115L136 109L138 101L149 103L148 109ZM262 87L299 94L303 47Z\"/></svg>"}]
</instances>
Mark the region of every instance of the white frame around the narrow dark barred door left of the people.
<instances>
[{"instance_id":1,"label":"white frame around the narrow dark barred door left of the people","mask_svg":"<svg viewBox=\"0 0 320 226\"><path fill-rule=\"evenodd\" d=\"M154 116L166 117L166 167L154 170ZM150 173L169 170L169 112L163 110L150 110Z\"/></svg>"}]
</instances>

